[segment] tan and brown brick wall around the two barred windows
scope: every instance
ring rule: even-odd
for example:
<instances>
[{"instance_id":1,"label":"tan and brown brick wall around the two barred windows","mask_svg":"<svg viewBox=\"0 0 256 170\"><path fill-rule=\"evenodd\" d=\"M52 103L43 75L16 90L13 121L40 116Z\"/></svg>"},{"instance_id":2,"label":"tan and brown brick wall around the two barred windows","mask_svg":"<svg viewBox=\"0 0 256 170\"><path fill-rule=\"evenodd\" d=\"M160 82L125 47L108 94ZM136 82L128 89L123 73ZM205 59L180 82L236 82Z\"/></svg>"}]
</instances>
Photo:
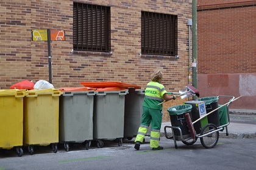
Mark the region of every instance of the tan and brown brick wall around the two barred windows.
<instances>
[{"instance_id":1,"label":"tan and brown brick wall around the two barred windows","mask_svg":"<svg viewBox=\"0 0 256 170\"><path fill-rule=\"evenodd\" d=\"M73 51L73 1L0 2L0 88L28 79L48 79L48 44L32 41L32 29L63 29L66 41L52 41L52 84L79 87L80 81L123 81L143 87L161 69L170 91L188 83L190 1L76 1L111 7L112 54ZM179 59L141 57L141 10L178 15Z\"/></svg>"}]
</instances>

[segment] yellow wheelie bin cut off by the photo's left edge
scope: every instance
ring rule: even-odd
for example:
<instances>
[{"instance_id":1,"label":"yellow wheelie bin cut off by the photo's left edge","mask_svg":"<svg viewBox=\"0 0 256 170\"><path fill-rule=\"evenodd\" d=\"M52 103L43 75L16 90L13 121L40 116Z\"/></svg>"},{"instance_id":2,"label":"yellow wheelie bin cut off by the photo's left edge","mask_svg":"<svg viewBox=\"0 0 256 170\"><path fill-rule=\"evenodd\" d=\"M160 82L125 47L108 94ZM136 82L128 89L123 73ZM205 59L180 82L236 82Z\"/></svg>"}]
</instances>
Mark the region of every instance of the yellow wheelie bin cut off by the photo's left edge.
<instances>
[{"instance_id":1,"label":"yellow wheelie bin cut off by the photo's left edge","mask_svg":"<svg viewBox=\"0 0 256 170\"><path fill-rule=\"evenodd\" d=\"M0 148L23 155L23 98L26 90L0 90Z\"/></svg>"}]
</instances>

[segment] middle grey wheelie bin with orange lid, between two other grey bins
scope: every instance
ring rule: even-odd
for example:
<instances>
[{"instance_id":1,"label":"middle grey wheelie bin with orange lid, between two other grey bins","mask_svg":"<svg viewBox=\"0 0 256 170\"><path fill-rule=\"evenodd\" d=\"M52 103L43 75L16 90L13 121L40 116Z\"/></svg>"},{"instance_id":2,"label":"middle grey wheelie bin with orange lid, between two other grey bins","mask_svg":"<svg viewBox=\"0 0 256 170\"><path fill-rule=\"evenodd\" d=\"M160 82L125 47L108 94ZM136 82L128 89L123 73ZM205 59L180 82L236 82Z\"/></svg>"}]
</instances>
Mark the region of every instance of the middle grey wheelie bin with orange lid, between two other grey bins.
<instances>
[{"instance_id":1,"label":"middle grey wheelie bin with orange lid, between two other grey bins","mask_svg":"<svg viewBox=\"0 0 256 170\"><path fill-rule=\"evenodd\" d=\"M96 91L93 107L93 140L97 147L104 146L104 140L117 140L122 146L124 137L124 101L128 90L102 88Z\"/></svg>"}]
</instances>

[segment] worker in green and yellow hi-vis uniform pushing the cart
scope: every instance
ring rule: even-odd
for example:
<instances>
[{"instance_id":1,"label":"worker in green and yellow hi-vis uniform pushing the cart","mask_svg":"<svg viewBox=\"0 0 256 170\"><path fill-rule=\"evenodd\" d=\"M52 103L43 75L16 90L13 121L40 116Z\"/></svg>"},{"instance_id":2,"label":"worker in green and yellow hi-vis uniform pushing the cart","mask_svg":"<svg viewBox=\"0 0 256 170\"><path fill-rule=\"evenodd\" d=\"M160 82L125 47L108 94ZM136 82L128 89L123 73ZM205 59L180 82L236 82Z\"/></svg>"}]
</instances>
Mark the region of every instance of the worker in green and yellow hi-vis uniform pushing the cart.
<instances>
[{"instance_id":1,"label":"worker in green and yellow hi-vis uniform pushing the cart","mask_svg":"<svg viewBox=\"0 0 256 170\"><path fill-rule=\"evenodd\" d=\"M160 129L163 116L163 105L161 102L176 99L176 96L168 96L165 87L161 84L163 80L162 71L156 70L151 75L151 82L148 83L145 90L143 102L143 113L141 116L141 124L138 129L138 134L135 139L134 148L139 150L140 144L143 142L144 136L147 133L148 127L151 124L150 147L152 150L162 150L159 146ZM158 105L160 104L160 105Z\"/></svg>"}]
</instances>

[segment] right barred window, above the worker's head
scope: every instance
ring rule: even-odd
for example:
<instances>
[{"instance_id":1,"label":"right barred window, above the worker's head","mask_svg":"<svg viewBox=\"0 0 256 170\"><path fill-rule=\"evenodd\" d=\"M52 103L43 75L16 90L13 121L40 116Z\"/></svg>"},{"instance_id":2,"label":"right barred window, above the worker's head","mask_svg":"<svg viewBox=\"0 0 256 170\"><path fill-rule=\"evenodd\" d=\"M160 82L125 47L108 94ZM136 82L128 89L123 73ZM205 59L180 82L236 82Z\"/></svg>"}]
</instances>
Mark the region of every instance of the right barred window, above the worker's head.
<instances>
[{"instance_id":1,"label":"right barred window, above the worker's head","mask_svg":"<svg viewBox=\"0 0 256 170\"><path fill-rule=\"evenodd\" d=\"M141 54L177 55L177 15L141 12Z\"/></svg>"}]
</instances>

